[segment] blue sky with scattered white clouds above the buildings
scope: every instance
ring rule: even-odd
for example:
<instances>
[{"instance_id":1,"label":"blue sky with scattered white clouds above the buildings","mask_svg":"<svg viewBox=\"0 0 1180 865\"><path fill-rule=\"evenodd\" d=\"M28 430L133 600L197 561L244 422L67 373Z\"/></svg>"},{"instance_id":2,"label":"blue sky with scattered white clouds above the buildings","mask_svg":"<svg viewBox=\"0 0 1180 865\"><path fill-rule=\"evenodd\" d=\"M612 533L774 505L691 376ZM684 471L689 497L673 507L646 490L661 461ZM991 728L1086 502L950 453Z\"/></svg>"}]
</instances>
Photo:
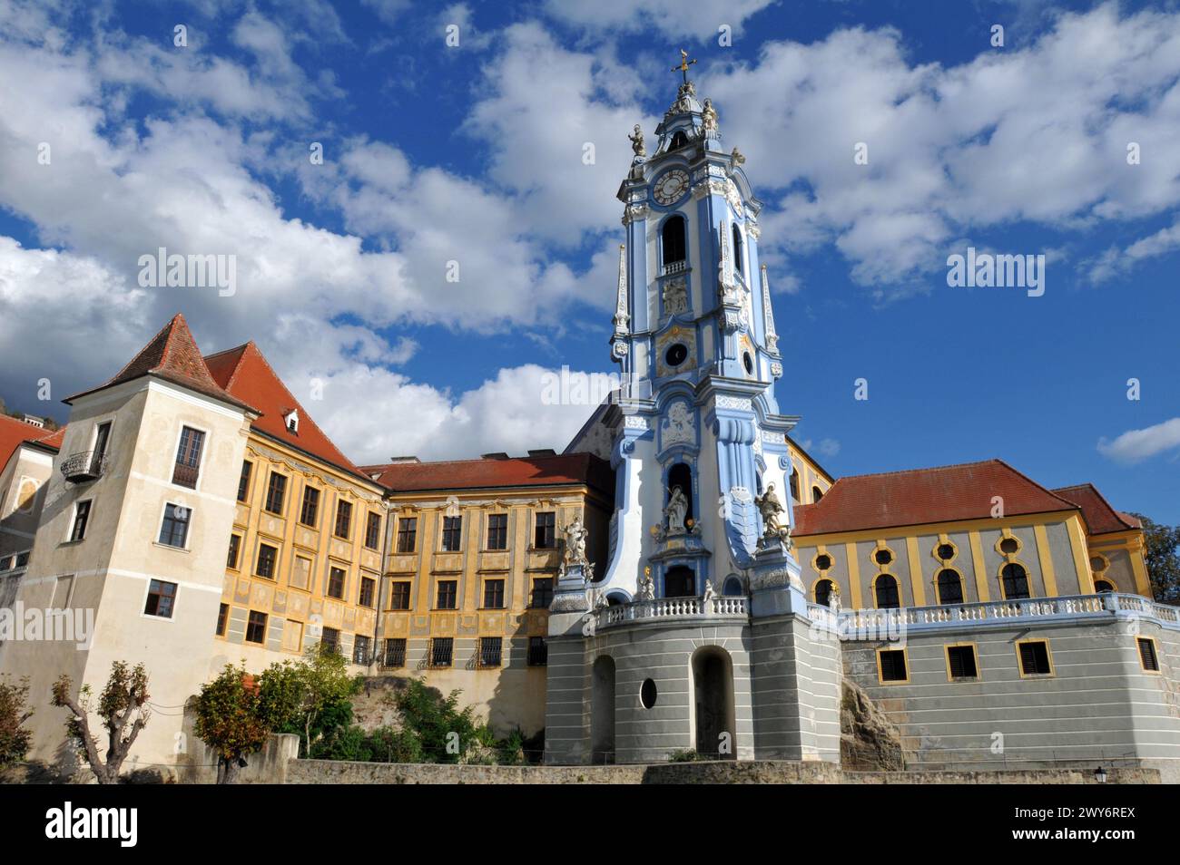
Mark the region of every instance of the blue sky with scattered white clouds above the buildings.
<instances>
[{"instance_id":1,"label":"blue sky with scattered white clouds above the buildings","mask_svg":"<svg viewBox=\"0 0 1180 865\"><path fill-rule=\"evenodd\" d=\"M999 456L1180 522L1178 5L680 6L4 4L0 395L64 418L183 311L359 462L563 447L590 408L540 382L611 369L627 134L683 46L766 205L780 404L833 474ZM237 256L236 292L140 288L160 245ZM1047 256L1045 293L949 288L969 245Z\"/></svg>"}]
</instances>

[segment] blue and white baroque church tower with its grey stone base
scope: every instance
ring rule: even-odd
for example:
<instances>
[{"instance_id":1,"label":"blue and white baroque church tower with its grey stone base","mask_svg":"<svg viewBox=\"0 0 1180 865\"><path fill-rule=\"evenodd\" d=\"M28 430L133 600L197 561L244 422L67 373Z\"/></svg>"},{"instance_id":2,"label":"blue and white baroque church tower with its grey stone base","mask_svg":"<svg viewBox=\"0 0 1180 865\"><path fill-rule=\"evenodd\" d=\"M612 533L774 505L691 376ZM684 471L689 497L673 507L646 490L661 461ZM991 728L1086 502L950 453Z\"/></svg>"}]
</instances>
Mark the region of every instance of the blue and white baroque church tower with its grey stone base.
<instances>
[{"instance_id":1,"label":"blue and white baroque church tower with its grey stone base","mask_svg":"<svg viewBox=\"0 0 1180 865\"><path fill-rule=\"evenodd\" d=\"M610 458L616 501L604 576L565 568L551 607L546 759L839 759L838 652L813 646L830 614L811 609L791 549L798 418L774 392L761 204L687 58L678 68L618 191L622 387L569 447ZM821 696L785 692L800 662L826 671Z\"/></svg>"}]
</instances>

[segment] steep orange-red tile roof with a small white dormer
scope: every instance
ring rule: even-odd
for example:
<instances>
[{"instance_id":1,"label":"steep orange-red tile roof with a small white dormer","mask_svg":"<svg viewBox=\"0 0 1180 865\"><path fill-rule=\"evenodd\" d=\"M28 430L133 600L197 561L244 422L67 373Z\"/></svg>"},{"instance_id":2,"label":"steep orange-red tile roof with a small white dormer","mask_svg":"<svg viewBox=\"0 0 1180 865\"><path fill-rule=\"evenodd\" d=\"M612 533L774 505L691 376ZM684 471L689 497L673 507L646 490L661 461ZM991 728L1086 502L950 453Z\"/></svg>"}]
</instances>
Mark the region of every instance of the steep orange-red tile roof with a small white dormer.
<instances>
[{"instance_id":1,"label":"steep orange-red tile roof with a small white dormer","mask_svg":"<svg viewBox=\"0 0 1180 865\"><path fill-rule=\"evenodd\" d=\"M345 469L354 475L368 478L368 475L353 464L341 450L323 434L312 416L303 409L299 400L283 384L278 375L267 363L254 342L227 349L204 358L212 381L229 394L256 405L260 412L253 428L271 438L302 450L310 456ZM299 412L299 431L287 429L283 416L291 409Z\"/></svg>"}]
</instances>

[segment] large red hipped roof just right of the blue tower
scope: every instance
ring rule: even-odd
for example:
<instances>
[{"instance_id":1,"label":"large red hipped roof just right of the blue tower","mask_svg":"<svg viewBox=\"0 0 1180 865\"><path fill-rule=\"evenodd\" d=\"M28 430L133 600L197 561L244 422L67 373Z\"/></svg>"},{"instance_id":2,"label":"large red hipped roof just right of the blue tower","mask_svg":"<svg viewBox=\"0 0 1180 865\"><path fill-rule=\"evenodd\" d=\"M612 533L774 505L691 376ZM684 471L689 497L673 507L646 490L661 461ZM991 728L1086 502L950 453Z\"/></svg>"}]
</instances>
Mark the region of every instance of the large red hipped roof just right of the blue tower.
<instances>
[{"instance_id":1,"label":"large red hipped roof just right of the blue tower","mask_svg":"<svg viewBox=\"0 0 1180 865\"><path fill-rule=\"evenodd\" d=\"M880 475L841 477L815 504L794 509L795 536L922 526L991 516L992 496L1004 514L1077 510L1001 460Z\"/></svg>"}]
</instances>

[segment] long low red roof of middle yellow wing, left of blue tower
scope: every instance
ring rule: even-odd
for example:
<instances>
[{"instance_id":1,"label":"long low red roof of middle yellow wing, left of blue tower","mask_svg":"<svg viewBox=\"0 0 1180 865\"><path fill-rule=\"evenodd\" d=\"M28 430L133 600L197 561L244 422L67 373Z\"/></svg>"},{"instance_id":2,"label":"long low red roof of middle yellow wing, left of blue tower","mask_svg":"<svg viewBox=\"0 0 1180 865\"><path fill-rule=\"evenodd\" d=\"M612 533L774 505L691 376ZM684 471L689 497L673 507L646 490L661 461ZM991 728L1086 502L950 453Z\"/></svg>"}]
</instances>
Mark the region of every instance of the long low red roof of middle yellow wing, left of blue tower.
<instances>
[{"instance_id":1,"label":"long low red roof of middle yellow wing, left of blue tower","mask_svg":"<svg viewBox=\"0 0 1180 865\"><path fill-rule=\"evenodd\" d=\"M365 465L366 475L394 493L497 487L551 487L586 483L614 495L610 464L592 454L558 454L510 458L484 457L452 462L398 462Z\"/></svg>"}]
</instances>

